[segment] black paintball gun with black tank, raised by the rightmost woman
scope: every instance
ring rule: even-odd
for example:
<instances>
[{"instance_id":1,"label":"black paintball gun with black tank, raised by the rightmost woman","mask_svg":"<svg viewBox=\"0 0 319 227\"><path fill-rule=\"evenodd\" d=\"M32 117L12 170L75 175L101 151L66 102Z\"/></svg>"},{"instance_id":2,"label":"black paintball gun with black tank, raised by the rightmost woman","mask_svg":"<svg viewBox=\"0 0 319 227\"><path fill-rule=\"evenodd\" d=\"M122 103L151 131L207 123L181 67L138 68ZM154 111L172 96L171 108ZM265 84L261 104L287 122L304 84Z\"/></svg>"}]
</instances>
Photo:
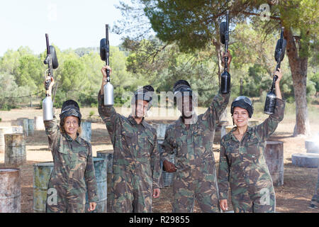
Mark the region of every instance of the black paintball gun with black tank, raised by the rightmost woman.
<instances>
[{"instance_id":1,"label":"black paintball gun with black tank, raised by the rightmost woman","mask_svg":"<svg viewBox=\"0 0 319 227\"><path fill-rule=\"evenodd\" d=\"M284 27L281 28L280 39L277 41L276 50L274 52L274 58L277 62L276 71L280 68L280 63L284 60L285 51L286 51L286 40L284 39ZM264 114L274 114L274 107L276 106L276 94L274 93L275 83L277 80L277 76L273 74L272 79L272 87L270 91L267 93L266 101L264 104Z\"/></svg>"}]
</instances>

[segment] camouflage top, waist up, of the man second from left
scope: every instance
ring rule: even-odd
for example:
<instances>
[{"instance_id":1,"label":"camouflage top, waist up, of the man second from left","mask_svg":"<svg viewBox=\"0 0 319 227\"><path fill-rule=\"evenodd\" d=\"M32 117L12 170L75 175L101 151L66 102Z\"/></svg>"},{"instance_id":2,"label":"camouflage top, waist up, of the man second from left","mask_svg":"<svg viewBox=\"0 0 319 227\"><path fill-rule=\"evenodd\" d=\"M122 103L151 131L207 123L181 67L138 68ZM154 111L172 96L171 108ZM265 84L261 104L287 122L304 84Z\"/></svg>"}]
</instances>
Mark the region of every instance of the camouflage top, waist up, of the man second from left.
<instances>
[{"instance_id":1,"label":"camouflage top, waist up, of the man second from left","mask_svg":"<svg viewBox=\"0 0 319 227\"><path fill-rule=\"evenodd\" d=\"M113 170L122 168L123 171L133 172L145 182L151 182L153 189L159 188L161 169L155 128L144 118L138 124L133 116L126 118L117 114L113 106L104 106L100 93L99 114L106 123L113 144Z\"/></svg>"}]
</instances>

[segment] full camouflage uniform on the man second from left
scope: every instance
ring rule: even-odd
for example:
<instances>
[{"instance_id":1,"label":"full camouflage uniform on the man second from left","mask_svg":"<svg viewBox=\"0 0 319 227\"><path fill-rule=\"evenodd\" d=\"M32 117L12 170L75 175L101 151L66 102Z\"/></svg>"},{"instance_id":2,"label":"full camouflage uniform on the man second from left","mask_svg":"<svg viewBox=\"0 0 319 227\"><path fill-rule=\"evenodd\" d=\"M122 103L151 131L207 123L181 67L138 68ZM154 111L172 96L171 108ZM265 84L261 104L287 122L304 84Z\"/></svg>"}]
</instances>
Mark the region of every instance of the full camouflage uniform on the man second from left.
<instances>
[{"instance_id":1,"label":"full camouflage uniform on the man second from left","mask_svg":"<svg viewBox=\"0 0 319 227\"><path fill-rule=\"evenodd\" d=\"M152 192L159 188L160 156L157 135L143 119L125 118L113 106L103 105L99 93L99 114L106 123L113 144L111 212L152 212Z\"/></svg>"}]
</instances>

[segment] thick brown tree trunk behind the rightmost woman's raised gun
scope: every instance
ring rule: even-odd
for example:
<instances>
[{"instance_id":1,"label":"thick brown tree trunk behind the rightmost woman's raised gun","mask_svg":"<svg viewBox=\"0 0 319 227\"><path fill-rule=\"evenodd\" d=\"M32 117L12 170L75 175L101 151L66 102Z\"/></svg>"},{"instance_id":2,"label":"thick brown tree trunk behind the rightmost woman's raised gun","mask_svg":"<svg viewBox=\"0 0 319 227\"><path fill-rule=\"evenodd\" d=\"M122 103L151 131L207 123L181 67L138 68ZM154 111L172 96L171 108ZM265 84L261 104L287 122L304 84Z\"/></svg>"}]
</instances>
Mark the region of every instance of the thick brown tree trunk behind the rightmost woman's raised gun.
<instances>
[{"instance_id":1,"label":"thick brown tree trunk behind the rightmost woman's raised gun","mask_svg":"<svg viewBox=\"0 0 319 227\"><path fill-rule=\"evenodd\" d=\"M297 50L296 42L290 28L285 29L284 37L287 40L286 50L291 68L293 92L296 101L296 125L293 129L293 136L309 135L310 126L306 96L308 56L300 56L303 48L306 47L299 45L299 51Z\"/></svg>"}]
</instances>

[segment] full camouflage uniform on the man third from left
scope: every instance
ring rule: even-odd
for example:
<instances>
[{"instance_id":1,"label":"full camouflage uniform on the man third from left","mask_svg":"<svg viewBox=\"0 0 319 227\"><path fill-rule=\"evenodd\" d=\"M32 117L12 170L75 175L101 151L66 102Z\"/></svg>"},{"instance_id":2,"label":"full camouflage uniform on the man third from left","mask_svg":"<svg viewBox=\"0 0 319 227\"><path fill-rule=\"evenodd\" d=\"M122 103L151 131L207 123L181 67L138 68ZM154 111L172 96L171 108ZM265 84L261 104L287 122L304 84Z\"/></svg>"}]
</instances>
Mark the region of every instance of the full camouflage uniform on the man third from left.
<instances>
[{"instance_id":1,"label":"full camouflage uniform on the man third from left","mask_svg":"<svg viewBox=\"0 0 319 227\"><path fill-rule=\"evenodd\" d=\"M173 212L193 212L194 200L203 212L218 212L218 186L213 155L213 139L220 114L225 110L229 94L220 92L208 110L190 124L189 130L181 117L168 126L162 159L176 149L177 172L173 182Z\"/></svg>"}]
</instances>

